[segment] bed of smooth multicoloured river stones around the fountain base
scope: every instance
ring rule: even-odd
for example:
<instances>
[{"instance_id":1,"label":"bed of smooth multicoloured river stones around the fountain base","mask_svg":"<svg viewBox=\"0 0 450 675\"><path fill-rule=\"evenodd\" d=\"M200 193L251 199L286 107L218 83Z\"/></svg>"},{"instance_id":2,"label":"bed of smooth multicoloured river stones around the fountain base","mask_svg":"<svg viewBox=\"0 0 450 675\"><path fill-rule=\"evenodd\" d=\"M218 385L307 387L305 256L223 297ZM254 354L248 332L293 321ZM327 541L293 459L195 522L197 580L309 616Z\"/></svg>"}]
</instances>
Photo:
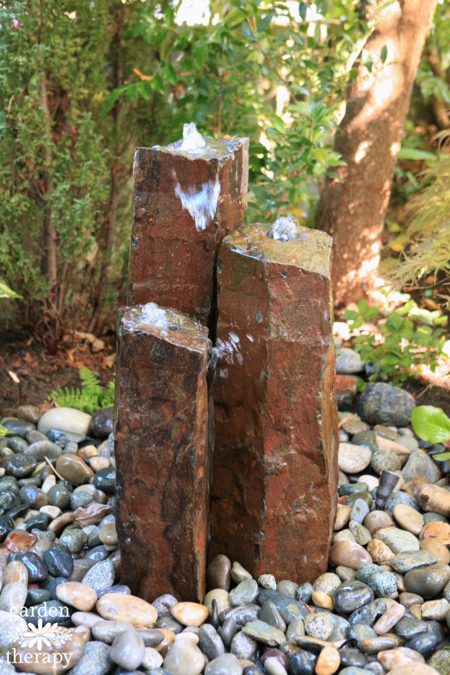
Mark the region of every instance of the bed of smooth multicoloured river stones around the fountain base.
<instances>
[{"instance_id":1,"label":"bed of smooth multicoloured river stones around the fountain base","mask_svg":"<svg viewBox=\"0 0 450 675\"><path fill-rule=\"evenodd\" d=\"M202 604L131 595L120 585L111 411L20 406L3 419L0 675L449 674L450 467L433 460L442 446L411 431L403 390L369 385L359 414L345 410L354 391L343 378L361 363L338 356L338 510L329 571L312 584L273 570L252 579L219 555ZM399 483L379 511L383 469ZM58 624L60 645L21 644L39 618Z\"/></svg>"}]
</instances>

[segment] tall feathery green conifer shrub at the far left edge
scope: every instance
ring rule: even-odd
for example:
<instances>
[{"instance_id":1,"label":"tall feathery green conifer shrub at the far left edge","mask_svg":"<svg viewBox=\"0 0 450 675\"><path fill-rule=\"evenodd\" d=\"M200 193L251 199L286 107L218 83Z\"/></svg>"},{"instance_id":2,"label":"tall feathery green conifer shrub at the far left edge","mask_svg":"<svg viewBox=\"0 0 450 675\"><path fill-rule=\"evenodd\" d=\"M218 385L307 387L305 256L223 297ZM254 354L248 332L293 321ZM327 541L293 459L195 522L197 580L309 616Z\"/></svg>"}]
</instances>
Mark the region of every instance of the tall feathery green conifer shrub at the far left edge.
<instances>
[{"instance_id":1,"label":"tall feathery green conifer shrub at the far left edge","mask_svg":"<svg viewBox=\"0 0 450 675\"><path fill-rule=\"evenodd\" d=\"M79 301L83 258L98 232L107 150L95 115L106 8L107 0L80 3L73 20L73 0L0 6L0 270L26 310L38 303L42 312L54 284ZM44 243L51 224L55 282Z\"/></svg>"}]
</instances>

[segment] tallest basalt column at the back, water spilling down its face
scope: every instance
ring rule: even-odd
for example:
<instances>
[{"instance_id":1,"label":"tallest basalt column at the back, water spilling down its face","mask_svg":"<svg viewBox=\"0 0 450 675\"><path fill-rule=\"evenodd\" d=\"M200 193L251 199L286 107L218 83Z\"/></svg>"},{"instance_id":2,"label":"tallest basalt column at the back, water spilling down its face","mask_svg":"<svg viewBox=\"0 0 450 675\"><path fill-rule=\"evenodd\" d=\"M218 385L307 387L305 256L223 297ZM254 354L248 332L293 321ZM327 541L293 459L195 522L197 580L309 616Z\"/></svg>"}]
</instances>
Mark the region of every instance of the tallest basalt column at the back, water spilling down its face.
<instances>
[{"instance_id":1,"label":"tallest basalt column at the back, water spilling down its face","mask_svg":"<svg viewBox=\"0 0 450 675\"><path fill-rule=\"evenodd\" d=\"M215 323L215 260L244 218L249 139L210 139L204 154L179 145L136 148L128 302Z\"/></svg>"}]
</instances>

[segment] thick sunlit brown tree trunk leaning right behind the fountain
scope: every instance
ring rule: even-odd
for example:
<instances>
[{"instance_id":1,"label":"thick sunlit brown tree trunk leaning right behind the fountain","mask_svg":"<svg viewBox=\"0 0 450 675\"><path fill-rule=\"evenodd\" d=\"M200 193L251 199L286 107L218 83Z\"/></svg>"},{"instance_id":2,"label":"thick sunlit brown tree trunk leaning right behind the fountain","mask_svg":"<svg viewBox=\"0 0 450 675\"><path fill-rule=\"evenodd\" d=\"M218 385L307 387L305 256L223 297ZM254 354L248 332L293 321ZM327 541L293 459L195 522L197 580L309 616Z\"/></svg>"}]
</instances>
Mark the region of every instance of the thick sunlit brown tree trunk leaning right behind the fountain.
<instances>
[{"instance_id":1,"label":"thick sunlit brown tree trunk leaning right behind the fountain","mask_svg":"<svg viewBox=\"0 0 450 675\"><path fill-rule=\"evenodd\" d=\"M375 0L366 5L366 18L377 25L365 46L366 65L360 60L357 78L348 86L334 143L346 166L338 170L340 180L327 179L316 217L316 226L334 239L335 305L359 300L372 287L404 120L436 4Z\"/></svg>"}]
</instances>

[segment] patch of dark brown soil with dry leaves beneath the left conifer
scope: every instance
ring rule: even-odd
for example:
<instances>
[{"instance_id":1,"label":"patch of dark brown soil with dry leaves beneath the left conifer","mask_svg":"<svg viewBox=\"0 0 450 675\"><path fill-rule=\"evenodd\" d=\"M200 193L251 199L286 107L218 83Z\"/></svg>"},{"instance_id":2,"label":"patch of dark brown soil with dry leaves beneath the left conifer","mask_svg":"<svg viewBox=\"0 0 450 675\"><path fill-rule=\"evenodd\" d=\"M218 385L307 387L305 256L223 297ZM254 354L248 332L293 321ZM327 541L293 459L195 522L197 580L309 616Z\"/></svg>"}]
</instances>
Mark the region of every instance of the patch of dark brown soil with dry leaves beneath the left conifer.
<instances>
[{"instance_id":1,"label":"patch of dark brown soil with dry leaves beneath the left conifer","mask_svg":"<svg viewBox=\"0 0 450 675\"><path fill-rule=\"evenodd\" d=\"M114 379L116 364L105 365L105 357L115 350L111 339L101 352L93 354L88 341L61 343L55 356L48 354L42 343L20 333L0 334L0 415L11 415L21 404L42 406L58 387L80 386L78 369L90 368L102 384ZM19 378L14 381L9 372Z\"/></svg>"}]
</instances>

